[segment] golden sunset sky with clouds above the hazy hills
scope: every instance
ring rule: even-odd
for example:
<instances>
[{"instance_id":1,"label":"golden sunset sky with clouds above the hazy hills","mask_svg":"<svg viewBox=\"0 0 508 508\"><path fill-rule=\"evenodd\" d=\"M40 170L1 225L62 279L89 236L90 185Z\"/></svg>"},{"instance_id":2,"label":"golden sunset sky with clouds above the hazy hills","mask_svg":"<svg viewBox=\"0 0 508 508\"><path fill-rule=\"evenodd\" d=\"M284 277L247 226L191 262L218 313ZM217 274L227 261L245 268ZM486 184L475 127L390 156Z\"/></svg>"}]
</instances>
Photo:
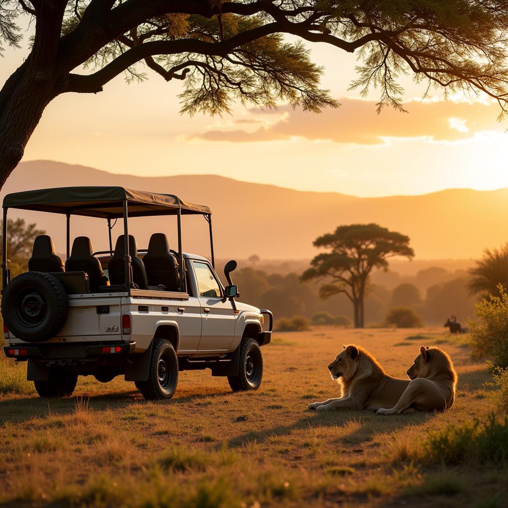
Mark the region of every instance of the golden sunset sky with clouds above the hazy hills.
<instances>
[{"instance_id":1,"label":"golden sunset sky with clouds above the hazy hills","mask_svg":"<svg viewBox=\"0 0 508 508\"><path fill-rule=\"evenodd\" d=\"M25 43L26 44L26 43ZM410 79L408 113L376 113L379 90L367 99L348 91L356 56L309 44L325 66L322 85L340 103L322 114L281 104L277 110L236 106L231 115L179 114L181 81L155 74L126 84L121 76L98 94L65 94L49 104L23 161L80 164L142 176L218 174L238 180L355 196L414 195L444 188L508 187L508 121L485 98L436 94ZM3 83L26 48L7 48ZM437 93L437 92L436 92Z\"/></svg>"}]
</instances>

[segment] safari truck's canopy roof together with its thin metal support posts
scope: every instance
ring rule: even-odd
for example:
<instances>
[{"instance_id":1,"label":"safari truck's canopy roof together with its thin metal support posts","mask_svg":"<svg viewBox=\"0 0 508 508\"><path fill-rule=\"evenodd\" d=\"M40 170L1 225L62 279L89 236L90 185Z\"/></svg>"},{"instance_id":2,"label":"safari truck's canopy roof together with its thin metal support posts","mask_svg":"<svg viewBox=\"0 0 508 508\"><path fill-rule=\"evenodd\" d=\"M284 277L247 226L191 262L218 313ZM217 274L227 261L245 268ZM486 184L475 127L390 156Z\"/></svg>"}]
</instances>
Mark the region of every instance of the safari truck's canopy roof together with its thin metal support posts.
<instances>
[{"instance_id":1,"label":"safari truck's canopy roof together with its thin metal support posts","mask_svg":"<svg viewBox=\"0 0 508 508\"><path fill-rule=\"evenodd\" d=\"M97 196L93 195L93 189L98 189L98 193L101 194L99 201ZM54 201L55 197L60 198L66 195L66 190L69 193L78 195L79 201L69 203L67 199L61 201ZM111 190L113 199L103 199L104 195L108 194L108 190ZM46 194L44 192L46 191ZM36 194L39 193L39 194ZM42 198L41 198L41 193ZM88 196L87 193L92 196ZM30 195L33 195L34 199L30 199ZM123 194L122 199L115 199L116 196ZM39 204L37 199L46 201ZM93 204L90 205L84 198L90 198ZM53 199L53 201L51 201ZM78 203L86 203L83 206L79 206ZM69 205L74 206L69 206ZM77 206L76 206L77 205ZM183 251L182 251L182 232L181 232L181 216L182 214L199 214L203 215L208 223L209 236L210 236L210 253L212 267L215 268L215 259L213 252L213 233L212 233L212 212L206 206L193 205L186 203L176 196L166 194L151 194L146 192L138 192L123 187L60 187L55 189L41 189L34 191L27 191L25 193L13 193L9 194L4 198L3 204L3 231L2 231L2 292L6 285L10 282L10 270L8 268L9 260L7 259L7 237L8 237L8 221L7 212L9 208L17 208L24 210L39 210L50 213L65 213L67 224L66 224L66 237L67 237L67 258L70 256L71 251L71 215L84 215L98 218L106 218L108 223L108 237L109 237L109 251L100 251L100 253L113 253L113 243L111 237L111 230L114 227L111 226L111 219L123 218L123 239L124 239L124 262L125 262L125 282L124 290L130 293L131 289L135 289L133 283L132 274L132 257L129 252L129 208L136 209L138 211L132 214L133 216L154 216L154 215L176 215L177 216L177 235L178 235L178 251L171 249L173 253L176 253L178 257L178 272L180 276L180 292L185 292L185 266L183 263ZM111 209L112 213L108 212ZM183 213L182 213L183 212ZM115 221L116 224L116 221ZM96 252L99 253L99 252ZM94 253L94 254L96 254Z\"/></svg>"}]
</instances>

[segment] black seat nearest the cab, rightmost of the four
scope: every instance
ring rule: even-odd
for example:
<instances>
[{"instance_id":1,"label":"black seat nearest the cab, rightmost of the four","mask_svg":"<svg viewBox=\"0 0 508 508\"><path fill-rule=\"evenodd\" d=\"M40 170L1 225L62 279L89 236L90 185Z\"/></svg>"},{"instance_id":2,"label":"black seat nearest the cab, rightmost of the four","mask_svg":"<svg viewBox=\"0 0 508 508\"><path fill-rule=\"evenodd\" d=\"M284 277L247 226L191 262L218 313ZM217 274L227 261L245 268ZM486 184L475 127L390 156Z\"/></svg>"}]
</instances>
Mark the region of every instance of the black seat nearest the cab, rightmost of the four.
<instances>
[{"instance_id":1,"label":"black seat nearest the cab, rightmost of the four","mask_svg":"<svg viewBox=\"0 0 508 508\"><path fill-rule=\"evenodd\" d=\"M150 237L143 263L149 286L156 287L162 284L166 291L180 289L178 263L169 250L168 237L164 233L154 233Z\"/></svg>"}]
</instances>

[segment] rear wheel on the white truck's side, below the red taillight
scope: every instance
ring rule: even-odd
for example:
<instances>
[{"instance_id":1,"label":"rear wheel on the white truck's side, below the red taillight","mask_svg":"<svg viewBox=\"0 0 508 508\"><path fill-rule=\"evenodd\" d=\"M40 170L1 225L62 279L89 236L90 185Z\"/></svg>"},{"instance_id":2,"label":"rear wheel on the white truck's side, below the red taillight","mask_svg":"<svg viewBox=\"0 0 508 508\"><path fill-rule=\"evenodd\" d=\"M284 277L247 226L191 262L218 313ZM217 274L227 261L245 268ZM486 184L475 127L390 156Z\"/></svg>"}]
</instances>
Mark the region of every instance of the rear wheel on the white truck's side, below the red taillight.
<instances>
[{"instance_id":1,"label":"rear wheel on the white truck's side, below the red taillight","mask_svg":"<svg viewBox=\"0 0 508 508\"><path fill-rule=\"evenodd\" d=\"M178 384L178 359L169 340L153 344L146 381L136 381L136 388L146 400L170 399Z\"/></svg>"}]
</instances>

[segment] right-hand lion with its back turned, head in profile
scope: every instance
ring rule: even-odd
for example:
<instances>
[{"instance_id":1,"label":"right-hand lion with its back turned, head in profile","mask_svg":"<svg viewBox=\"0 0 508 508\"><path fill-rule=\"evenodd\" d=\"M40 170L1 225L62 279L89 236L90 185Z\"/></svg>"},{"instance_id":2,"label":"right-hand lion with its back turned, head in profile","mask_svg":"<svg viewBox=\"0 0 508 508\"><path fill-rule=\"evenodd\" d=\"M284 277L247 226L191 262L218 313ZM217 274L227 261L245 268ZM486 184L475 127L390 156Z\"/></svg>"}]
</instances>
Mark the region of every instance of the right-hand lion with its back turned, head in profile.
<instances>
[{"instance_id":1,"label":"right-hand lion with its back turned, head in profile","mask_svg":"<svg viewBox=\"0 0 508 508\"><path fill-rule=\"evenodd\" d=\"M399 401L391 409L378 409L378 415L400 415L411 410L444 411L453 406L457 373L447 353L438 347L420 347L407 375L411 382Z\"/></svg>"}]
</instances>

